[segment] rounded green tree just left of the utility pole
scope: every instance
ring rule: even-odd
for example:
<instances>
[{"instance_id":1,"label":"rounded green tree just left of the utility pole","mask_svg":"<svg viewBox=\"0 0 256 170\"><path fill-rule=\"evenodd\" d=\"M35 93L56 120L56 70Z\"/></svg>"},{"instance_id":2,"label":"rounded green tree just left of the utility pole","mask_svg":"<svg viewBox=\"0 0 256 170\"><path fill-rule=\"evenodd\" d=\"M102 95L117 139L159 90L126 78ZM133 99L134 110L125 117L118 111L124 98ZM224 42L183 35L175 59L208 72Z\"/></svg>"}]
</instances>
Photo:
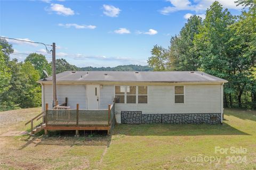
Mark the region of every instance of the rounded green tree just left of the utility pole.
<instances>
[{"instance_id":1,"label":"rounded green tree just left of the utility pole","mask_svg":"<svg viewBox=\"0 0 256 170\"><path fill-rule=\"evenodd\" d=\"M42 54L31 53L27 56L25 62L30 62L35 67L39 72L41 79L45 78L43 70L47 71L49 75L52 73L51 64L47 62L45 56Z\"/></svg>"}]
</instances>

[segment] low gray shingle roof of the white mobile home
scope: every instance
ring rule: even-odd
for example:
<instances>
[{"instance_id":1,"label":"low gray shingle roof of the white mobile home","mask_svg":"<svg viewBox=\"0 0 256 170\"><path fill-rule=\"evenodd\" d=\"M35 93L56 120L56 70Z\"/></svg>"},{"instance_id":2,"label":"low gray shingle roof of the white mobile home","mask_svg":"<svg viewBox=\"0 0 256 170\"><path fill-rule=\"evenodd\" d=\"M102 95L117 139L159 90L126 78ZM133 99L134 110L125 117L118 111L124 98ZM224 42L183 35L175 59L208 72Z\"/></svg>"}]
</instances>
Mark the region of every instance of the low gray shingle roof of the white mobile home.
<instances>
[{"instance_id":1,"label":"low gray shingle roof of the white mobile home","mask_svg":"<svg viewBox=\"0 0 256 170\"><path fill-rule=\"evenodd\" d=\"M57 81L115 81L115 82L227 82L213 75L195 71L65 71L56 75ZM52 81L52 77L39 82Z\"/></svg>"}]
</instances>

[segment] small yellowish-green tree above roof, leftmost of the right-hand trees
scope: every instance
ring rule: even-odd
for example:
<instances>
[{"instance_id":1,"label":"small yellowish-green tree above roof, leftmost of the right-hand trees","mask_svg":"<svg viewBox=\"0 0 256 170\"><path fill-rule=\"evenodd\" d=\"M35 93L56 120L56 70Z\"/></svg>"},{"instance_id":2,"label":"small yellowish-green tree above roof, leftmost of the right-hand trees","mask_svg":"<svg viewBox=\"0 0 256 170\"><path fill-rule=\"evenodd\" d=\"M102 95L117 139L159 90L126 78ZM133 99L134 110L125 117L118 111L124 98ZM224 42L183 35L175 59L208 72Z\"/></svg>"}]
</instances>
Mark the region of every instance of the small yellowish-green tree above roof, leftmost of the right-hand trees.
<instances>
[{"instance_id":1,"label":"small yellowish-green tree above roof, leftmost of the right-hand trees","mask_svg":"<svg viewBox=\"0 0 256 170\"><path fill-rule=\"evenodd\" d=\"M148 65L154 68L154 71L165 71L168 68L168 50L155 45L151 50L151 57L148 58Z\"/></svg>"}]
</instances>

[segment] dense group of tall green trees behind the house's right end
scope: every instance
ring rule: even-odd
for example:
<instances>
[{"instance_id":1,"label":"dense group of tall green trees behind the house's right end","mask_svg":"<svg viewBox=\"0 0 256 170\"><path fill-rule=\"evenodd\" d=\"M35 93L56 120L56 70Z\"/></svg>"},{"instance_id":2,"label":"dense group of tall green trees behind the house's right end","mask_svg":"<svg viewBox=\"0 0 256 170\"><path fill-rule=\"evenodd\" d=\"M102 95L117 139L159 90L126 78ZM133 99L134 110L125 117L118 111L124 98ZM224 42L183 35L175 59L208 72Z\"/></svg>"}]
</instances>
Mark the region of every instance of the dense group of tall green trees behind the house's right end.
<instances>
[{"instance_id":1,"label":"dense group of tall green trees behind the house's right end","mask_svg":"<svg viewBox=\"0 0 256 170\"><path fill-rule=\"evenodd\" d=\"M256 2L239 0L241 15L231 15L219 2L205 19L191 16L169 48L155 45L148 65L155 71L203 71L228 80L226 107L256 109Z\"/></svg>"}]
</instances>

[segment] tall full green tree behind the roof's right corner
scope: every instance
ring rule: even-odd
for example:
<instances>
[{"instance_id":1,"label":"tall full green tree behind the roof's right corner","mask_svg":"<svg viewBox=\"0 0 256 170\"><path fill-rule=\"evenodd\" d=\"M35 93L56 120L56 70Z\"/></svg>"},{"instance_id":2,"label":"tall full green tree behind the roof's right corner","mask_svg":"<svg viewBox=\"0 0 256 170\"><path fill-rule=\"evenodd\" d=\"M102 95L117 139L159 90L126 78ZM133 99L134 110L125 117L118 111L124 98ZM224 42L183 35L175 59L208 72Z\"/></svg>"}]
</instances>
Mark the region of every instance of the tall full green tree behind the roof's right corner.
<instances>
[{"instance_id":1,"label":"tall full green tree behind the roof's right corner","mask_svg":"<svg viewBox=\"0 0 256 170\"><path fill-rule=\"evenodd\" d=\"M234 61L236 52L233 50L234 44L230 42L234 32L229 29L235 22L235 17L225 9L219 2L214 2L206 11L206 17L199 33L194 39L194 52L198 55L198 70L226 79L229 83L225 84L226 94L229 95L231 103L231 94L234 92L234 77L231 76L234 71Z\"/></svg>"}]
</instances>

